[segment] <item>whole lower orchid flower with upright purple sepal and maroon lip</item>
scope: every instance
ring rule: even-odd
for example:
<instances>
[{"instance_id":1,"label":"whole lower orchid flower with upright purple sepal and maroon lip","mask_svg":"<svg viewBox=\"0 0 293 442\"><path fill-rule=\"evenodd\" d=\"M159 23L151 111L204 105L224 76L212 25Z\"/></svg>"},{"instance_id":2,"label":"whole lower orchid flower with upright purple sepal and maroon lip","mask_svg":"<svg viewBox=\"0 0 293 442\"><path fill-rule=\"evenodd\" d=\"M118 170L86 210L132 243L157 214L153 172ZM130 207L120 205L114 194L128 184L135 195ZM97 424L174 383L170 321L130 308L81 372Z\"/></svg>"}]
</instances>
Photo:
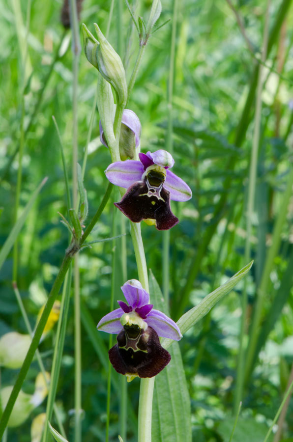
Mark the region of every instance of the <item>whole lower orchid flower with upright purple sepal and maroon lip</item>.
<instances>
[{"instance_id":1,"label":"whole lower orchid flower with upright purple sepal and maroon lip","mask_svg":"<svg viewBox=\"0 0 293 442\"><path fill-rule=\"evenodd\" d=\"M104 316L97 329L118 333L117 344L109 350L110 362L118 373L128 380L151 378L171 359L159 336L178 341L182 334L172 319L149 304L149 294L137 279L125 282L121 290L128 304L118 301L119 308Z\"/></svg>"}]
</instances>

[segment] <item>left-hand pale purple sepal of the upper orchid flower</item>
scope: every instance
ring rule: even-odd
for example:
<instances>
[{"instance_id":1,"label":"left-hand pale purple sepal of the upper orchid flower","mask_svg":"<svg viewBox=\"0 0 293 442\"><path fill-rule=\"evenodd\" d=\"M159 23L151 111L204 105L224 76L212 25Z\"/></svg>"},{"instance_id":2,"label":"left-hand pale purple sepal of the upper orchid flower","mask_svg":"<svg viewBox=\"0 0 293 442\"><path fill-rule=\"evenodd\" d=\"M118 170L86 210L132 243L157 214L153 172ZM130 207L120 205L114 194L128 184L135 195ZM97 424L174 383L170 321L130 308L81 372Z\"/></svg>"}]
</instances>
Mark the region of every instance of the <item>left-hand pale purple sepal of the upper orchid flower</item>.
<instances>
[{"instance_id":1,"label":"left-hand pale purple sepal of the upper orchid flower","mask_svg":"<svg viewBox=\"0 0 293 442\"><path fill-rule=\"evenodd\" d=\"M106 177L111 183L126 189L141 180L143 173L143 164L136 160L117 161L105 170Z\"/></svg>"}]
</instances>

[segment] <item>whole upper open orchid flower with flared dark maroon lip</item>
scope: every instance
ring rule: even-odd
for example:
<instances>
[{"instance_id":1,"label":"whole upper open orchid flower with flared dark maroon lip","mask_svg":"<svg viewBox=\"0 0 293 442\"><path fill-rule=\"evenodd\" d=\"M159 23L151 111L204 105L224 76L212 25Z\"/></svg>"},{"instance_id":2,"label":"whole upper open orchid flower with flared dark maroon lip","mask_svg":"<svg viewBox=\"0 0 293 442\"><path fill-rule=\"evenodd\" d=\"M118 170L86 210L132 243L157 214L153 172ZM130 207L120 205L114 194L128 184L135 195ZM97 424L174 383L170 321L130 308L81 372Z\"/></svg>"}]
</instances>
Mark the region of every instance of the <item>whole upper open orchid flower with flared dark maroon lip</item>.
<instances>
[{"instance_id":1,"label":"whole upper open orchid flower with flared dark maroon lip","mask_svg":"<svg viewBox=\"0 0 293 442\"><path fill-rule=\"evenodd\" d=\"M127 189L121 201L114 204L133 222L146 220L158 230L168 230L178 222L171 211L170 199L188 201L192 192L169 170L175 161L166 150L140 153L139 159L117 161L105 170L111 183Z\"/></svg>"}]
</instances>

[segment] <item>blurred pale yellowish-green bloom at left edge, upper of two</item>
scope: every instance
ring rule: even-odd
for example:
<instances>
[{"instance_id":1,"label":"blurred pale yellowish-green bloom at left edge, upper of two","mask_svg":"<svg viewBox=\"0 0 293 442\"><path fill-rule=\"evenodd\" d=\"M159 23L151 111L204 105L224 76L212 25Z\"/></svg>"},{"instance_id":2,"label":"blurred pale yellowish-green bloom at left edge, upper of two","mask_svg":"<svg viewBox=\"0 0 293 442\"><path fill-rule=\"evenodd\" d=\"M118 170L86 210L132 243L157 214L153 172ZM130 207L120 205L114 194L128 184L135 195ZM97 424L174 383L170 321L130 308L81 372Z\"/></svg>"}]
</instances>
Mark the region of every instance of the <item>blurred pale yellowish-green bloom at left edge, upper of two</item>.
<instances>
[{"instance_id":1,"label":"blurred pale yellowish-green bloom at left edge, upper of two","mask_svg":"<svg viewBox=\"0 0 293 442\"><path fill-rule=\"evenodd\" d=\"M27 356L30 343L29 334L20 334L16 331L3 334L0 338L0 365L20 368Z\"/></svg>"}]
</instances>

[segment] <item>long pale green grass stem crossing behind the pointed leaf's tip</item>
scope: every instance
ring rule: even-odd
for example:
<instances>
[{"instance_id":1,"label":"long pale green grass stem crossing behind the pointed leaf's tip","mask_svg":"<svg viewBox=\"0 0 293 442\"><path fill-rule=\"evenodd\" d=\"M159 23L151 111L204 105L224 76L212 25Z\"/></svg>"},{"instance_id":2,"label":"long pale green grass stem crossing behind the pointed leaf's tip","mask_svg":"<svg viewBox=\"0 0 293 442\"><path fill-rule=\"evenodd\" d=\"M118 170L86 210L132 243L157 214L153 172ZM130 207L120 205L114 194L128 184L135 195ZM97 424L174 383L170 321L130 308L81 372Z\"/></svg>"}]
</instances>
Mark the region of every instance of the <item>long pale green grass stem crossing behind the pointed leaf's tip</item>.
<instances>
[{"instance_id":1,"label":"long pale green grass stem crossing behind the pointed leaf's tip","mask_svg":"<svg viewBox=\"0 0 293 442\"><path fill-rule=\"evenodd\" d=\"M263 62L266 59L266 52L267 52L269 7L270 7L270 0L267 1L266 14L265 14L264 42L263 42L263 51L262 51ZM254 204L255 204L256 177L257 177L258 152L259 152L261 116L262 116L262 92L264 84L262 74L263 74L263 65L261 64L259 68L259 77L257 84L255 125L254 125L250 170L249 170L244 262L248 262L251 257L250 238L252 234L252 220L253 220ZM239 355L238 355L238 364L237 364L236 392L234 397L234 413L237 413L239 402L241 401L242 392L243 392L244 339L245 339L245 319L246 319L247 302L248 302L247 279L245 278L244 289L242 294L242 317L241 317L240 335L239 335Z\"/></svg>"}]
</instances>

